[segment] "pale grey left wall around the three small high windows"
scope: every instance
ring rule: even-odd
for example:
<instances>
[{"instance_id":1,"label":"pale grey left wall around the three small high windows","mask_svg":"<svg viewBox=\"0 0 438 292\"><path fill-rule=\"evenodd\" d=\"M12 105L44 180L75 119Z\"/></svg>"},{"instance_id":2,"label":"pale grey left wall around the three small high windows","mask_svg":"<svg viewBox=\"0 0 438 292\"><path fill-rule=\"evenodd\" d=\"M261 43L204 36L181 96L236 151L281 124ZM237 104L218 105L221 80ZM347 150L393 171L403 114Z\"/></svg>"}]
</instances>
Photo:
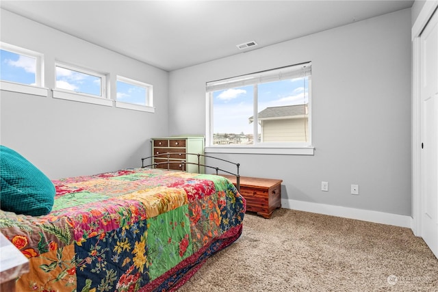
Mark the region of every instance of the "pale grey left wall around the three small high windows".
<instances>
[{"instance_id":1,"label":"pale grey left wall around the three small high windows","mask_svg":"<svg viewBox=\"0 0 438 292\"><path fill-rule=\"evenodd\" d=\"M108 32L110 34L110 32ZM1 41L44 53L47 88L55 60L154 86L155 114L1 91L1 144L14 148L52 179L141 165L149 138L168 131L168 72L1 10Z\"/></svg>"}]
</instances>

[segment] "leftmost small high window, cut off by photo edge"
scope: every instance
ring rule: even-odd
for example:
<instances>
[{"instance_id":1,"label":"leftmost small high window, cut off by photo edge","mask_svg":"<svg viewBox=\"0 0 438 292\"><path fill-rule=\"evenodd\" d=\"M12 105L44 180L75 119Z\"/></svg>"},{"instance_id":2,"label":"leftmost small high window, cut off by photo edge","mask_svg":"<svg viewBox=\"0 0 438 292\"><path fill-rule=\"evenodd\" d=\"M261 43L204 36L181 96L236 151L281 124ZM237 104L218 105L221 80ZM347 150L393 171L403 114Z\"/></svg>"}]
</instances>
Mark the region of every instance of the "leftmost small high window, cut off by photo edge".
<instances>
[{"instance_id":1,"label":"leftmost small high window, cut off by photo edge","mask_svg":"<svg viewBox=\"0 0 438 292\"><path fill-rule=\"evenodd\" d=\"M42 84L42 54L1 42L0 60L2 81L44 85Z\"/></svg>"}]
</instances>

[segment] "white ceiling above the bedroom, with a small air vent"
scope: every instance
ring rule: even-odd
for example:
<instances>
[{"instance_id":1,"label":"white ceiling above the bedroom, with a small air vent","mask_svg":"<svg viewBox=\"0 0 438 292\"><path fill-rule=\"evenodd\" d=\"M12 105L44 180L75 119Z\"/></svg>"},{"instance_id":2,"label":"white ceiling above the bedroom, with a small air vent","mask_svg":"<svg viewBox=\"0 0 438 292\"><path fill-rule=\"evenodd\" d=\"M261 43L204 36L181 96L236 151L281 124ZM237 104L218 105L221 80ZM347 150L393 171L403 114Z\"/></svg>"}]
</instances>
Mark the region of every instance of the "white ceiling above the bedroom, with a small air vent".
<instances>
[{"instance_id":1,"label":"white ceiling above the bedroom, with a small air vent","mask_svg":"<svg viewBox=\"0 0 438 292\"><path fill-rule=\"evenodd\" d=\"M413 1L0 1L1 8L166 71L411 8ZM255 40L257 47L237 49Z\"/></svg>"}]
</instances>

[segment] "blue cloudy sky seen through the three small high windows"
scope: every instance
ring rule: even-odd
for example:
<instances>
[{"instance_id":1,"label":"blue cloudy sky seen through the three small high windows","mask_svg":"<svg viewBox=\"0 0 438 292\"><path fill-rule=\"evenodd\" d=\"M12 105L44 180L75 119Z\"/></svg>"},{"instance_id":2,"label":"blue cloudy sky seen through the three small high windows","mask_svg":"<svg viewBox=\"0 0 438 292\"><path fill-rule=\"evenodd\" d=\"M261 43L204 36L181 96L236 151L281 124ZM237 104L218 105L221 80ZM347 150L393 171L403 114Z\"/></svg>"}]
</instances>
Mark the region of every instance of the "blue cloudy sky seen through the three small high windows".
<instances>
[{"instance_id":1,"label":"blue cloudy sky seen through the three small high windows","mask_svg":"<svg viewBox=\"0 0 438 292\"><path fill-rule=\"evenodd\" d=\"M0 79L36 85L36 57L0 50ZM73 92L101 96L101 77L56 66L56 87ZM117 81L117 101L146 105L146 89Z\"/></svg>"}]
</instances>

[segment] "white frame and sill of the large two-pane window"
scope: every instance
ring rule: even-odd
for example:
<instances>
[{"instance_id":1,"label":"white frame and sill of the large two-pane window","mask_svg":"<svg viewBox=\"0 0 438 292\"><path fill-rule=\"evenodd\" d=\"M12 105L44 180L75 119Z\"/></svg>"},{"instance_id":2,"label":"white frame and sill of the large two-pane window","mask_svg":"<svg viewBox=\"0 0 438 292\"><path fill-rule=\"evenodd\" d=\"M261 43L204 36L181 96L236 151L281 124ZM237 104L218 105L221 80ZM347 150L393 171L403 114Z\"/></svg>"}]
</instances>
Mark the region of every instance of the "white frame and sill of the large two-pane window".
<instances>
[{"instance_id":1,"label":"white frame and sill of the large two-pane window","mask_svg":"<svg viewBox=\"0 0 438 292\"><path fill-rule=\"evenodd\" d=\"M305 66L309 66L311 68L311 62L306 62L303 64L297 64L292 66L285 66L281 68L274 68L272 70L266 70L262 72L255 72L250 73L248 75L242 75L239 77L232 77L229 79L223 79L220 81L212 81L207 82L206 84L206 129L205 129L205 137L206 137L206 147L205 152L210 153L239 153L239 154L284 154L284 155L313 155L314 154L314 146L312 144L312 127L311 127L311 120L312 120L312 109L311 109L311 103L312 103L312 94L311 94L311 72L308 77L308 95L309 95L309 101L307 104L308 107L308 115L307 115L307 122L308 122L308 131L309 131L309 139L307 142L257 142L257 140L254 140L254 144L232 144L232 145L224 145L224 144L213 144L214 139L214 129L213 129L213 93L218 90L224 90L226 88L215 88L215 84L220 84L218 86L222 86L221 84L227 84L228 80L231 80L231 85L228 87L228 89L231 88L237 88L239 86L242 86L239 80L242 80L243 85L245 85L246 80L249 79L255 79L258 78L257 76L266 76L270 75L272 72L276 72L278 70L284 69L284 68L303 68ZM299 69L297 69L299 70ZM269 77L267 77L269 78ZM288 79L288 78L285 78ZM293 78L290 78L293 79ZM237 86L235 83L237 83ZM259 109L257 109L257 85L261 83L268 83L270 81L262 81L262 82L255 82L252 83L254 86L254 105L255 109L253 111L253 116L255 118L254 124L255 127L253 129L253 134L257 133L257 114L259 113ZM212 88L215 88L213 90L209 90L209 85L212 86ZM255 136L257 137L257 136Z\"/></svg>"}]
</instances>

